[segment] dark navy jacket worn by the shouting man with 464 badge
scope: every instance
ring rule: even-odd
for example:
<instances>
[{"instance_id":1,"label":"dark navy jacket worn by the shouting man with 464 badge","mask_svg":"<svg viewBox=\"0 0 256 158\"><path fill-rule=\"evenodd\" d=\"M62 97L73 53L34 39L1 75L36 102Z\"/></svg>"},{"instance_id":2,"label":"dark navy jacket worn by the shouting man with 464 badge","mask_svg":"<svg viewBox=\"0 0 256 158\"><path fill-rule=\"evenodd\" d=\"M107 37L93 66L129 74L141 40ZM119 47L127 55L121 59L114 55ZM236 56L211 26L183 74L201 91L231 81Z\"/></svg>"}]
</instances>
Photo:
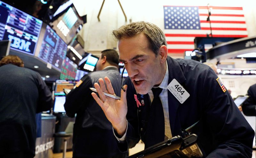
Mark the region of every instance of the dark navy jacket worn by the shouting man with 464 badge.
<instances>
[{"instance_id":1,"label":"dark navy jacket worn by the shouting man with 464 badge","mask_svg":"<svg viewBox=\"0 0 256 158\"><path fill-rule=\"evenodd\" d=\"M228 91L224 92L220 87L214 71L200 62L172 59L169 56L167 64L168 84L176 79L190 94L180 104L168 90L172 136L182 135L182 129L199 121L192 132L198 135L198 144L207 157L252 157L254 132ZM134 99L136 91L129 77L124 84L128 85L126 145L133 147L141 139L147 148L164 141L164 116L147 108L150 106L148 94L143 95L143 98L137 95L145 104L138 109ZM124 143L119 147L123 150L126 145Z\"/></svg>"}]
</instances>

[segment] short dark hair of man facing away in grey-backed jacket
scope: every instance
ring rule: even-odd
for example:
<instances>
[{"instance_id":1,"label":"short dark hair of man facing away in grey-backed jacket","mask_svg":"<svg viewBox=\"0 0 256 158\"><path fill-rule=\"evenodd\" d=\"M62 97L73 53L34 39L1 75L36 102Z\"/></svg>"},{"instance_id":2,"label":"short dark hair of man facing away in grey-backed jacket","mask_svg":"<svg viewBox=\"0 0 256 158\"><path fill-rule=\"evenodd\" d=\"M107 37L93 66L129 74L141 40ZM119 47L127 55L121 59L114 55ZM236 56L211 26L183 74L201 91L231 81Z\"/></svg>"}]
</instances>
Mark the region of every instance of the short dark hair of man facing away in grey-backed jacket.
<instances>
[{"instance_id":1,"label":"short dark hair of man facing away in grey-backed jacket","mask_svg":"<svg viewBox=\"0 0 256 158\"><path fill-rule=\"evenodd\" d=\"M119 55L114 49L106 49L101 52L101 57L103 58L104 56L107 57L107 61L111 65L115 65L118 67L119 63Z\"/></svg>"}]
</instances>

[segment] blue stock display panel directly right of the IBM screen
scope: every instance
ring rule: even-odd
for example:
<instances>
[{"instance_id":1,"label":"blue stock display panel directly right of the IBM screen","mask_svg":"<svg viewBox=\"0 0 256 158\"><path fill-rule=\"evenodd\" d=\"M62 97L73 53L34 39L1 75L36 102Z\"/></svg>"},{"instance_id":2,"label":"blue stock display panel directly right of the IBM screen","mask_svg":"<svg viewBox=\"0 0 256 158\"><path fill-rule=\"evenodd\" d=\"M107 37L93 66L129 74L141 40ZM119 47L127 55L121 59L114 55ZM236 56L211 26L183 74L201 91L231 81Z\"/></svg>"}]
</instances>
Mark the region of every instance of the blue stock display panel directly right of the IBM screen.
<instances>
[{"instance_id":1,"label":"blue stock display panel directly right of the IBM screen","mask_svg":"<svg viewBox=\"0 0 256 158\"><path fill-rule=\"evenodd\" d=\"M67 47L60 36L47 25L38 57L60 70L67 54Z\"/></svg>"}]
</instances>

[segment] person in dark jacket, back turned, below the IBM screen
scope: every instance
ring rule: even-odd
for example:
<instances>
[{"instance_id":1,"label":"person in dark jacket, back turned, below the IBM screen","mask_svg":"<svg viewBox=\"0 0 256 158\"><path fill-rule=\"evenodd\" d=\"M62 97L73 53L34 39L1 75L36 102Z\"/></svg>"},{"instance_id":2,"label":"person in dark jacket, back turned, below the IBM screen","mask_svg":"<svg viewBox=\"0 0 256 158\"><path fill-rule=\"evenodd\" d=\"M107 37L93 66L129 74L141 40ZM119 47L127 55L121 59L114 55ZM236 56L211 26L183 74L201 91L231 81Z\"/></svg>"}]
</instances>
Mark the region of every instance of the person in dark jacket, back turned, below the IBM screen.
<instances>
[{"instance_id":1,"label":"person in dark jacket, back turned, below the IBM screen","mask_svg":"<svg viewBox=\"0 0 256 158\"><path fill-rule=\"evenodd\" d=\"M36 113L48 111L52 94L39 73L14 55L0 61L0 157L35 156Z\"/></svg>"}]
</instances>

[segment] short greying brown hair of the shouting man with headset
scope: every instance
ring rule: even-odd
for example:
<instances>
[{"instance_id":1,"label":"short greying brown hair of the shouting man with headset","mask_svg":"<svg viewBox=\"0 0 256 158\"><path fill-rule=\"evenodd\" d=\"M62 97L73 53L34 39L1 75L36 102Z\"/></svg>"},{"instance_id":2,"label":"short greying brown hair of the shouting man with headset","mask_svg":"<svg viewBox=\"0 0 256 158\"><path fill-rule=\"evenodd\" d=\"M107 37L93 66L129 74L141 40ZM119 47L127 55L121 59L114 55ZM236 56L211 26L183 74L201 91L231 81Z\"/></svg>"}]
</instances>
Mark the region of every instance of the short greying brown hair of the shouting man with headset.
<instances>
[{"instance_id":1,"label":"short greying brown hair of the shouting man with headset","mask_svg":"<svg viewBox=\"0 0 256 158\"><path fill-rule=\"evenodd\" d=\"M156 56L158 56L159 49L162 45L167 46L164 32L155 24L148 22L132 22L130 24L123 25L112 32L113 36L117 40L134 37L140 33L143 33L147 37L149 47Z\"/></svg>"}]
</instances>

